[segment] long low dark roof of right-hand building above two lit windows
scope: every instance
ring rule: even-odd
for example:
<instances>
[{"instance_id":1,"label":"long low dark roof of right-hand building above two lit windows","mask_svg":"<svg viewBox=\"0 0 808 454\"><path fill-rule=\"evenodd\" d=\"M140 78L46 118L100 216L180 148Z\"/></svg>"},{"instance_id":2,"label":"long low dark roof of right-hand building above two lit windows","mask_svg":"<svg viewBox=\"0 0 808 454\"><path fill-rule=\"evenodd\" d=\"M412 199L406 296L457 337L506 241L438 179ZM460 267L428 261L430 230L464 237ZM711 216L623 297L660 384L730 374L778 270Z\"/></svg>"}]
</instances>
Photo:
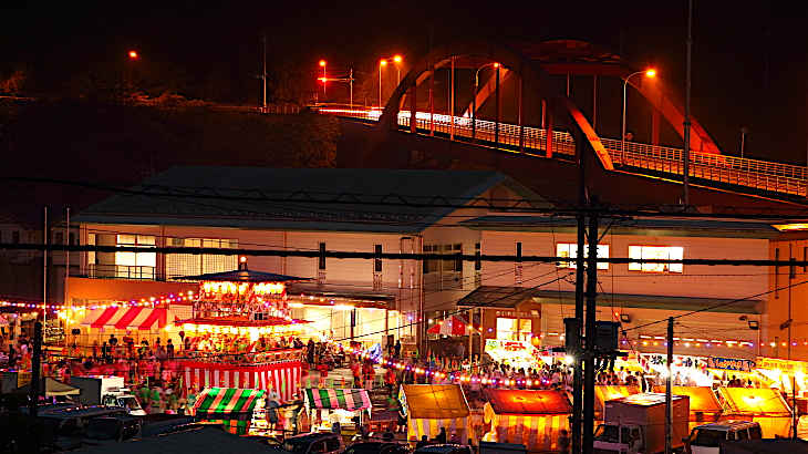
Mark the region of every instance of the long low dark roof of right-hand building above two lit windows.
<instances>
[{"instance_id":1,"label":"long low dark roof of right-hand building above two lit windows","mask_svg":"<svg viewBox=\"0 0 808 454\"><path fill-rule=\"evenodd\" d=\"M462 225L476 230L574 233L576 219L557 216L493 215L467 219ZM604 226L605 227L605 226ZM602 227L602 228L604 228ZM779 231L770 224L734 219L615 219L610 228L615 235L775 238Z\"/></svg>"}]
</instances>

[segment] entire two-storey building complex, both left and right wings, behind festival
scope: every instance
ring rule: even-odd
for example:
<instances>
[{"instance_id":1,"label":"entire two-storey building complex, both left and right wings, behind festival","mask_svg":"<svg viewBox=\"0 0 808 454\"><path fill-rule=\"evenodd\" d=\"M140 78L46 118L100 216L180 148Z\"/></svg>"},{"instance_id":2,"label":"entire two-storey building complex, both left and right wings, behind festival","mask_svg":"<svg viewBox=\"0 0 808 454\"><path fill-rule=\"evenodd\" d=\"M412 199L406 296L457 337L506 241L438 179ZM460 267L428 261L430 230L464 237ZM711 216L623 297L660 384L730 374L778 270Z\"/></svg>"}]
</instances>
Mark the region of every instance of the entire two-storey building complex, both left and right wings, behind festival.
<instances>
[{"instance_id":1,"label":"entire two-storey building complex, both left and right wings, behind festival","mask_svg":"<svg viewBox=\"0 0 808 454\"><path fill-rule=\"evenodd\" d=\"M194 288L179 277L237 266L235 254L148 250L155 246L576 255L573 219L519 214L496 200L522 200L510 205L519 208L549 206L541 195L494 172L178 167L79 216L82 244L144 251L83 254L81 276L69 281L68 302L177 293ZM601 227L599 255L607 257L802 258L806 247L762 221L631 218L607 219ZM335 339L383 343L389 333L414 343L419 322L431 327L459 310L472 313L484 340L538 337L545 345L557 345L562 319L574 308L572 262L255 256L249 267L311 278L288 288L296 317ZM601 264L598 317L620 321L622 344L640 351L662 352L664 320L687 314L675 326L680 353L799 359L808 352L808 330L799 322L783 323L788 308L798 320L802 309L796 302L806 290L776 288L805 270L774 271ZM478 342L473 339L474 349Z\"/></svg>"}]
</instances>

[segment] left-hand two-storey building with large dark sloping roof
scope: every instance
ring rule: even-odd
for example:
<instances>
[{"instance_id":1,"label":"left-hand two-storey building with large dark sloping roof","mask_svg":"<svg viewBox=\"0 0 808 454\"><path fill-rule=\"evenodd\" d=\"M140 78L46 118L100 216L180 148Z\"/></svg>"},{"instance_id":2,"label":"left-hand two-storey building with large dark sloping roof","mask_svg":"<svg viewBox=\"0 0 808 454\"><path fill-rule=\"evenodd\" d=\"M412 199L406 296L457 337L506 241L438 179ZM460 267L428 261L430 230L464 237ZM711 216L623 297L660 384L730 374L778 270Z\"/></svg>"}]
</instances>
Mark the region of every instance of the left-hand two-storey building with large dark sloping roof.
<instances>
[{"instance_id":1,"label":"left-hand two-storey building with large dark sloping roof","mask_svg":"<svg viewBox=\"0 0 808 454\"><path fill-rule=\"evenodd\" d=\"M134 193L91 206L77 221L87 245L68 303L93 306L194 289L180 277L236 269L237 256L160 254L151 247L296 251L473 254L490 198L538 200L494 172L179 167ZM458 209L456 207L467 206ZM425 310L454 307L475 288L474 264L255 256L250 269L313 279L287 289L294 317L334 339L415 342Z\"/></svg>"}]
</instances>

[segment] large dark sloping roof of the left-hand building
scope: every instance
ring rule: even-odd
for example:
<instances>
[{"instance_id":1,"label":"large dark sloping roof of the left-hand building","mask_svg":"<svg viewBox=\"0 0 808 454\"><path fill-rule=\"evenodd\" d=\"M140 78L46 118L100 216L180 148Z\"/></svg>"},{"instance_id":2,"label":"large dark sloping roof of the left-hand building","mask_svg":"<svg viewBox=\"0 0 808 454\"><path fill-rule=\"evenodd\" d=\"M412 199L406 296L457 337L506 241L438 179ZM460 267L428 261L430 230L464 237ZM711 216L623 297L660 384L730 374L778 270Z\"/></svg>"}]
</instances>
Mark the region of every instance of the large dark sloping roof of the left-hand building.
<instances>
[{"instance_id":1,"label":"large dark sloping roof of the left-hand building","mask_svg":"<svg viewBox=\"0 0 808 454\"><path fill-rule=\"evenodd\" d=\"M174 167L90 206L76 220L417 233L449 214L450 206L499 184L527 192L488 171Z\"/></svg>"}]
</instances>

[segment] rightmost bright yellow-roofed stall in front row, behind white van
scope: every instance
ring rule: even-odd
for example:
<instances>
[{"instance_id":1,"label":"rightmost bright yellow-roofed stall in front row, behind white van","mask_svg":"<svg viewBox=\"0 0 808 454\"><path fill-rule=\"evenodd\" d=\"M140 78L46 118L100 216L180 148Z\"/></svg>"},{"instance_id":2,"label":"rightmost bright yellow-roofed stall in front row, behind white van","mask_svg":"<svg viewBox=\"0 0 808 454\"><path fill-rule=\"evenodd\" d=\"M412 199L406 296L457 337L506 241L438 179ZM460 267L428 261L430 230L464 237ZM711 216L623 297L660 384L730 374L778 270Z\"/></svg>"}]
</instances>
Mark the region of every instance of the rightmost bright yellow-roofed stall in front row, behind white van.
<instances>
[{"instance_id":1,"label":"rightmost bright yellow-roofed stall in front row, behind white van","mask_svg":"<svg viewBox=\"0 0 808 454\"><path fill-rule=\"evenodd\" d=\"M749 420L760 424L764 438L789 436L791 409L773 389L718 388L724 405L722 419Z\"/></svg>"}]
</instances>

